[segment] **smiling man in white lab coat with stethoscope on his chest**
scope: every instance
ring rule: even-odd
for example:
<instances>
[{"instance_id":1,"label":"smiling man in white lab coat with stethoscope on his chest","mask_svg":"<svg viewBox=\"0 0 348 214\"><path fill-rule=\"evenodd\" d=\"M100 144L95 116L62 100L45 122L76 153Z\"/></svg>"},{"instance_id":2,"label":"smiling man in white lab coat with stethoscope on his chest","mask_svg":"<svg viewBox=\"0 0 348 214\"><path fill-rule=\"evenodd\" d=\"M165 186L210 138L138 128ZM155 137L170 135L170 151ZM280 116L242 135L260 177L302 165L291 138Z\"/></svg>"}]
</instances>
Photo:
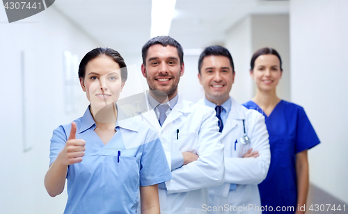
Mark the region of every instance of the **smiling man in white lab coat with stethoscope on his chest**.
<instances>
[{"instance_id":1,"label":"smiling man in white lab coat with stethoscope on his chest","mask_svg":"<svg viewBox=\"0 0 348 214\"><path fill-rule=\"evenodd\" d=\"M212 107L225 146L225 183L209 188L209 213L262 213L258 183L270 163L269 135L264 116L230 97L235 68L228 49L205 48L198 61L198 79L205 97L198 104Z\"/></svg>"}]
</instances>

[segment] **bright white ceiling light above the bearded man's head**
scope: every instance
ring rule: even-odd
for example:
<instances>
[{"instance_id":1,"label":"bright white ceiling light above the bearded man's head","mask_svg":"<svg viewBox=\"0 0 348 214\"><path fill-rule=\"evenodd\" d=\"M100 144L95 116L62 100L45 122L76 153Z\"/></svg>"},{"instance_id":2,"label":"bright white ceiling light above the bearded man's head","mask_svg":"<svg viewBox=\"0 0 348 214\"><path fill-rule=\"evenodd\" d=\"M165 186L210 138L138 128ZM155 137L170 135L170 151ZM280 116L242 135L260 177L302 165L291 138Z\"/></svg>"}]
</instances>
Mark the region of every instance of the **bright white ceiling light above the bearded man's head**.
<instances>
[{"instance_id":1,"label":"bright white ceiling light above the bearded man's head","mask_svg":"<svg viewBox=\"0 0 348 214\"><path fill-rule=\"evenodd\" d=\"M174 16L176 0L152 0L151 38L168 35Z\"/></svg>"}]
</instances>

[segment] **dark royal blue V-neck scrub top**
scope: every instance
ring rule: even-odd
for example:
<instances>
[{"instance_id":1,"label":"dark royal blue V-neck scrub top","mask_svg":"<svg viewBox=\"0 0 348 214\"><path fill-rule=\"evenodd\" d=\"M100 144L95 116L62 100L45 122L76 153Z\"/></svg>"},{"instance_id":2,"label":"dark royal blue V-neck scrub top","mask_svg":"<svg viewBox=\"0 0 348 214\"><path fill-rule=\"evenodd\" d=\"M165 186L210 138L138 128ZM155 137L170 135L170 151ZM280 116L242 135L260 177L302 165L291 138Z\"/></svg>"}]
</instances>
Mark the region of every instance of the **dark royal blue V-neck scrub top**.
<instances>
[{"instance_id":1,"label":"dark royal blue V-neck scrub top","mask_svg":"<svg viewBox=\"0 0 348 214\"><path fill-rule=\"evenodd\" d=\"M262 206L297 208L296 154L319 144L319 138L301 106L281 100L267 117L253 101L243 104L264 115L269 133L271 165L266 179L259 184ZM266 212L263 213L272 213ZM294 213L294 212L282 212Z\"/></svg>"}]
</instances>

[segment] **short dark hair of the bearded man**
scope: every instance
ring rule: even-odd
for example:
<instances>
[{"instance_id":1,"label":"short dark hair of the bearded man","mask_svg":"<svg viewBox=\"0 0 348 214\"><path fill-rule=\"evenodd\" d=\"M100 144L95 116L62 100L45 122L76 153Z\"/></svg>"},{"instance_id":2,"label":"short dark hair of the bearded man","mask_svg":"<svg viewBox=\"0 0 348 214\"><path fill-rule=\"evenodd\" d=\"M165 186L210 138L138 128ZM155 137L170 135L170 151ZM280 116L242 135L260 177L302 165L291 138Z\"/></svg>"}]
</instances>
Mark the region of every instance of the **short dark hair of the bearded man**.
<instances>
[{"instance_id":1,"label":"short dark hair of the bearded man","mask_svg":"<svg viewBox=\"0 0 348 214\"><path fill-rule=\"evenodd\" d=\"M184 63L184 51L182 51L181 44L168 35L161 35L148 40L148 42L144 44L143 49L141 49L144 65L146 65L146 57L148 56L148 49L155 44L161 44L164 47L166 47L167 45L171 45L175 47L177 49L177 55L180 58L180 65Z\"/></svg>"}]
</instances>

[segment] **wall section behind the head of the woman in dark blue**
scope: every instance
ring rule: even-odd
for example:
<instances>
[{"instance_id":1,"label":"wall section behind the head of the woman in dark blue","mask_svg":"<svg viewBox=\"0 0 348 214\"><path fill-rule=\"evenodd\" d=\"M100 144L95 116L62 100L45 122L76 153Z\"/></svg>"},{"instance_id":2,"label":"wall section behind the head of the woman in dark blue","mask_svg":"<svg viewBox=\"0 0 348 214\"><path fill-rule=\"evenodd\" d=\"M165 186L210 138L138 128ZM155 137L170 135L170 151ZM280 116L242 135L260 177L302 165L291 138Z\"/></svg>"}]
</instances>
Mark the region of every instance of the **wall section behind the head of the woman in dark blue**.
<instances>
[{"instance_id":1,"label":"wall section behind the head of the woman in dark blue","mask_svg":"<svg viewBox=\"0 0 348 214\"><path fill-rule=\"evenodd\" d=\"M288 15L249 15L226 32L226 48L235 63L235 83L230 94L244 103L255 96L256 86L249 75L253 53L262 47L276 49L283 61L283 77L277 88L279 97L290 100L290 44Z\"/></svg>"}]
</instances>

